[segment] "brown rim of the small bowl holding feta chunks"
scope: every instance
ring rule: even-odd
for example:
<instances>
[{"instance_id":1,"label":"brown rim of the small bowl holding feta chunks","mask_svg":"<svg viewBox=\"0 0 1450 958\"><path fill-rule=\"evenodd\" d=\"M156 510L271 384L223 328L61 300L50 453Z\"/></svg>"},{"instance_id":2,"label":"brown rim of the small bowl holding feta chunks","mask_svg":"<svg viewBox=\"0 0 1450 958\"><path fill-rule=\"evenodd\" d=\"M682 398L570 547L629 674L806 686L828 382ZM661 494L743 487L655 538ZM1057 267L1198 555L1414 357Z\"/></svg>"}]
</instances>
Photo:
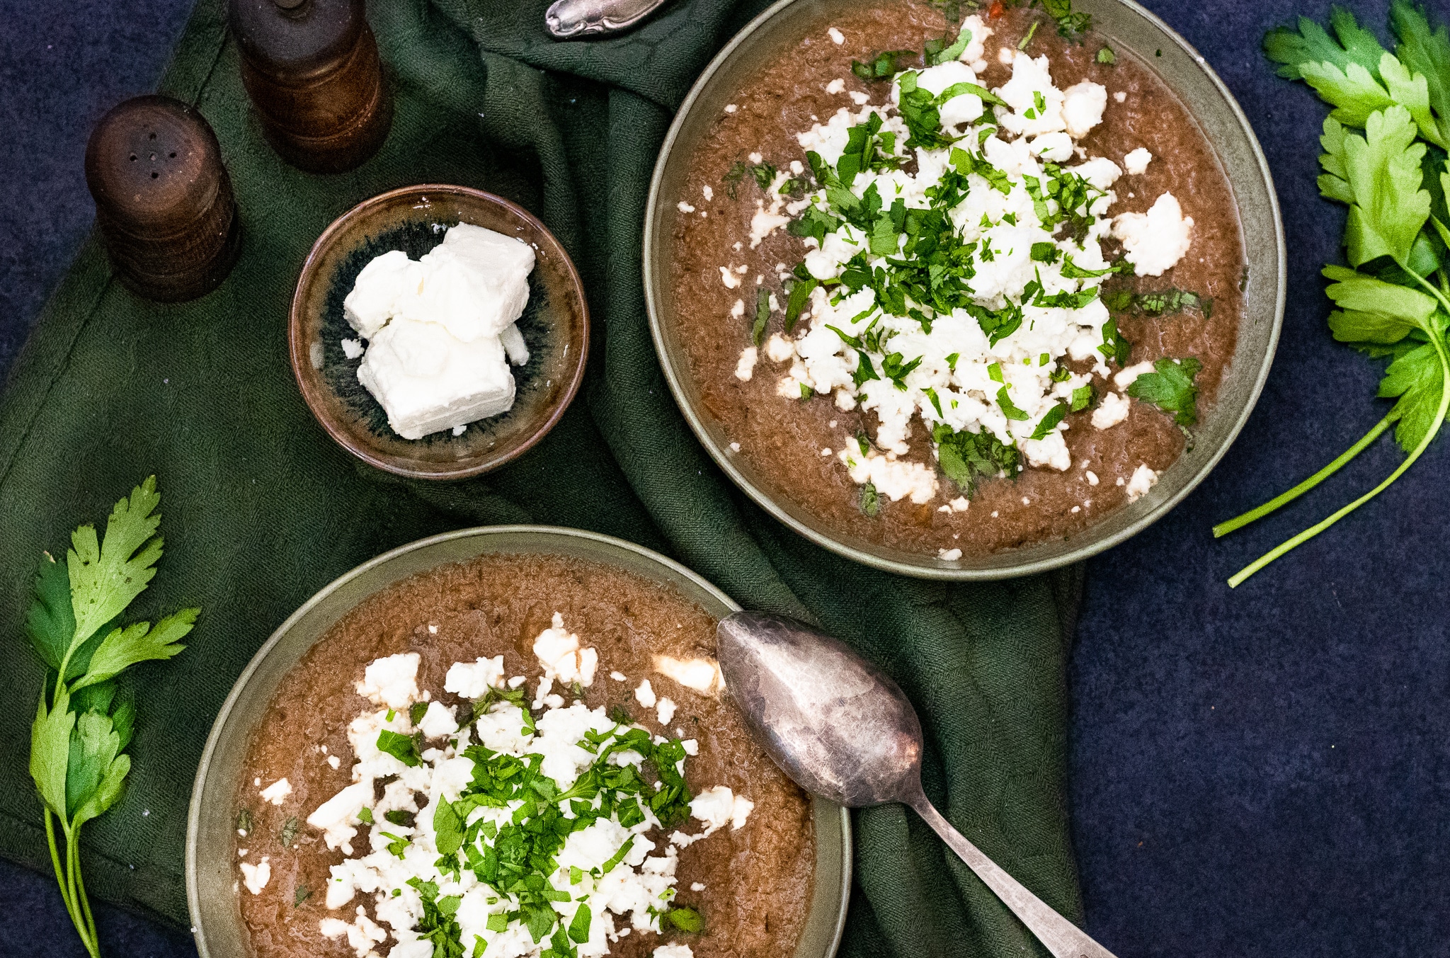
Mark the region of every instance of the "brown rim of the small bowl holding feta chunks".
<instances>
[{"instance_id":1,"label":"brown rim of the small bowl holding feta chunks","mask_svg":"<svg viewBox=\"0 0 1450 958\"><path fill-rule=\"evenodd\" d=\"M580 326L583 335L580 339L579 358L574 361L573 372L568 383L564 384L564 391L560 394L560 401L554 404L548 417L539 425L534 433L528 436L523 442L505 449L496 457L490 457L483 462L473 462L468 465L460 465L454 468L436 468L436 470L418 470L409 468L396 462L392 457L380 455L371 448L355 442L352 436L341 429L331 416L325 416L319 410L319 403L316 397L316 390L325 388L313 384L306 368L310 367L310 358L307 355L307 345L303 342L302 335L302 315L306 309L303 303L303 284L312 272L318 268L318 261L322 258L334 242L336 242L338 235L358 216L362 216L373 207L381 206L399 197L406 197L412 194L422 196L426 199L428 193L434 194L450 194L450 196L465 196L473 200L480 200L487 204L500 206L513 216L525 220L531 228L539 230L539 233L548 239L548 242L558 252L561 262L564 264L564 272L570 286L579 293L579 307L580 307ZM532 449L539 439L547 436L551 429L564 416L564 410L570 407L574 401L574 396L579 393L580 384L584 381L584 367L589 362L589 299L584 296L584 281L579 275L579 268L574 265L574 259L564 249L564 243L532 213L496 193L489 193L486 190L478 190L474 187L448 184L448 183L419 183L415 186L397 187L394 190L387 190L386 193L378 193L371 196L361 203L352 206L345 213L332 220L325 230L313 241L312 248L307 251L307 258L302 261L302 271L297 274L297 284L293 287L291 303L287 307L287 351L291 357L291 372L297 380L297 390L302 393L303 401L312 412L312 417L318 420L318 425L336 442L339 446L362 459L368 465L383 470L384 472L392 472L393 475L403 475L407 478L423 478L423 480L463 480L471 478L474 475L481 475L490 472L500 465L506 465Z\"/></svg>"}]
</instances>

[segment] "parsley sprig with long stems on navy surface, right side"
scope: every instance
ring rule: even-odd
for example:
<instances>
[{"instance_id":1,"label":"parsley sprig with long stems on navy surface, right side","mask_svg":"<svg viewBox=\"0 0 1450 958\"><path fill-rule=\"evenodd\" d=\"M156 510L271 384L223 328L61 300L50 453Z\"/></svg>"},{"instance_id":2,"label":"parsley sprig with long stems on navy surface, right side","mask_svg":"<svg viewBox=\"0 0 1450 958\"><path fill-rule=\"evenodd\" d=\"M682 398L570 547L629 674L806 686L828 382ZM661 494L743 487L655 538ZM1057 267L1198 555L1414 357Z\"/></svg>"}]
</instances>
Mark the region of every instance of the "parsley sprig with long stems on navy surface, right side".
<instances>
[{"instance_id":1,"label":"parsley sprig with long stems on navy surface, right side","mask_svg":"<svg viewBox=\"0 0 1450 958\"><path fill-rule=\"evenodd\" d=\"M1270 30L1264 52L1282 77L1304 80L1334 106L1320 143L1320 193L1350 207L1344 248L1353 270L1325 267L1338 307L1330 332L1370 357L1388 357L1379 384L1395 406L1364 436L1282 496L1214 526L1222 536L1293 501L1363 452L1386 429L1405 461L1369 493L1260 557L1232 578L1238 586L1289 549L1320 535L1388 488L1414 465L1450 407L1450 33L1431 30L1424 9L1393 0L1391 54L1354 16L1335 7L1334 38L1314 20L1298 32ZM1350 128L1362 128L1363 136Z\"/></svg>"}]
</instances>

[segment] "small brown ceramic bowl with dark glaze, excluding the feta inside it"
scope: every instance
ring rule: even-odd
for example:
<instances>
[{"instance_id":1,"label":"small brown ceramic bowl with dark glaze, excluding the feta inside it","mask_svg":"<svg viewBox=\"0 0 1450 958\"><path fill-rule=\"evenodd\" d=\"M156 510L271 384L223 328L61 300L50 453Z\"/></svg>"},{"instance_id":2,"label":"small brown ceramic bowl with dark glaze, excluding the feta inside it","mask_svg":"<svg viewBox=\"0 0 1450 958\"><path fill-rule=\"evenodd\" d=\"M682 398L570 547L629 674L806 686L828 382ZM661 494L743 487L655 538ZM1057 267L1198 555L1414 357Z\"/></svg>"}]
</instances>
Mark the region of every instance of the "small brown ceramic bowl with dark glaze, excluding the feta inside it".
<instances>
[{"instance_id":1,"label":"small brown ceramic bowl with dark glaze, excluding the feta inside it","mask_svg":"<svg viewBox=\"0 0 1450 958\"><path fill-rule=\"evenodd\" d=\"M458 436L444 430L403 439L358 383L361 359L342 351L344 339L357 338L342 315L342 300L374 257L402 249L416 259L457 223L518 236L534 246L529 301L519 317L529 361L512 367L516 393L509 412L468 423ZM374 196L323 230L302 265L287 336L302 397L338 445L397 475L457 480L516 458L564 415L584 377L589 304L568 254L522 207L481 190L425 184Z\"/></svg>"}]
</instances>

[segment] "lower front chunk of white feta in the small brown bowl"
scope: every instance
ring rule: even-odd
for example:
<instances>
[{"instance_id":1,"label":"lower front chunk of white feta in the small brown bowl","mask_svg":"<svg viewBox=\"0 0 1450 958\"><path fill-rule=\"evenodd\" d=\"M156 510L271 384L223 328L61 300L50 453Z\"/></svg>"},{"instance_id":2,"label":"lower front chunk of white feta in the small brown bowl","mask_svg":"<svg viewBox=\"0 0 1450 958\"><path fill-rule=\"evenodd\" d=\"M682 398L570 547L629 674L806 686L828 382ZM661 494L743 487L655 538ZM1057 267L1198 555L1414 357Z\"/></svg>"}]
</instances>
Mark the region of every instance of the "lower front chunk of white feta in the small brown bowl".
<instances>
[{"instance_id":1,"label":"lower front chunk of white feta in the small brown bowl","mask_svg":"<svg viewBox=\"0 0 1450 958\"><path fill-rule=\"evenodd\" d=\"M358 381L405 439L422 439L513 406L513 374L497 335L465 342L442 323L390 322L368 343Z\"/></svg>"}]
</instances>

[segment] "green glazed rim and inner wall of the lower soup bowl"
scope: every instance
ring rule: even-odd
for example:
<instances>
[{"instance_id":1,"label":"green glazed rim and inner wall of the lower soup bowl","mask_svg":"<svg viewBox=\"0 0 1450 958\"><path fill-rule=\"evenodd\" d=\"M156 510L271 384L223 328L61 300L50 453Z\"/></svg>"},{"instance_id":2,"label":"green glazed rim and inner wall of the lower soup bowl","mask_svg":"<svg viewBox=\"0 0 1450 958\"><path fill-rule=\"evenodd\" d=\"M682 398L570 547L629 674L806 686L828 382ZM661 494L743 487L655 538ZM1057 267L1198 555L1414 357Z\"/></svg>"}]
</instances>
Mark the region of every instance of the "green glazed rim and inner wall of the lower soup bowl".
<instances>
[{"instance_id":1,"label":"green glazed rim and inner wall of the lower soup bowl","mask_svg":"<svg viewBox=\"0 0 1450 958\"><path fill-rule=\"evenodd\" d=\"M663 555L622 539L551 526L448 532L380 555L341 577L294 612L252 657L222 704L202 752L186 842L187 907L202 958L251 958L235 888L236 780L245 762L248 736L261 722L283 677L368 596L409 575L492 554L548 554L600 562L671 586L712 616L725 617L740 610L725 593ZM835 954L851 890L848 813L825 799L812 803L815 890L793 958Z\"/></svg>"}]
</instances>

